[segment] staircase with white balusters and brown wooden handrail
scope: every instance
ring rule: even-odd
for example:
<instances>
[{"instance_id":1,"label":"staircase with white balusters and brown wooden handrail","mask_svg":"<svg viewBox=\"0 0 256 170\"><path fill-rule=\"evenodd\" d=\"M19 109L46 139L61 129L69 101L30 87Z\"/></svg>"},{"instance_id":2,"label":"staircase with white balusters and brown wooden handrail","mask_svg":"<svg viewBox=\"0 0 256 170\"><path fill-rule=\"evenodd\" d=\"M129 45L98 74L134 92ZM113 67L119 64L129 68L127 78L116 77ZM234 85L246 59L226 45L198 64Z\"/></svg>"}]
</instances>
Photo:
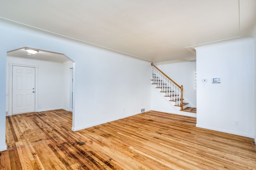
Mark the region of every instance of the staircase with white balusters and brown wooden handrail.
<instances>
[{"instance_id":1,"label":"staircase with white balusters and brown wooden handrail","mask_svg":"<svg viewBox=\"0 0 256 170\"><path fill-rule=\"evenodd\" d=\"M152 84L160 91L162 95L164 95L166 100L171 102L172 105L176 107L179 111L196 113L196 108L189 107L189 103L184 100L183 86L179 86L154 64L152 64L152 66Z\"/></svg>"}]
</instances>

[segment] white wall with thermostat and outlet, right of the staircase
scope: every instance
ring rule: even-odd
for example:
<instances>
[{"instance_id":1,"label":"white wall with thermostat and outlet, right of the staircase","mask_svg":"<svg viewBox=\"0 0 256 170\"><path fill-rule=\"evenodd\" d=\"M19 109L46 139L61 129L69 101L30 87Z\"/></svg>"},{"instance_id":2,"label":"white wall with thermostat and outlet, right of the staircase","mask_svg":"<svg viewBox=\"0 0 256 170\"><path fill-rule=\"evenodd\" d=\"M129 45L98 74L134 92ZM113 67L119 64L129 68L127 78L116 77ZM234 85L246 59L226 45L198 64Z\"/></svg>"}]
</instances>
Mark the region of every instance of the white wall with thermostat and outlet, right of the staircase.
<instances>
[{"instance_id":1,"label":"white wall with thermostat and outlet, right of the staircase","mask_svg":"<svg viewBox=\"0 0 256 170\"><path fill-rule=\"evenodd\" d=\"M254 137L254 41L196 47L197 127ZM211 78L220 77L220 84ZM202 79L207 78L206 87ZM234 125L239 121L239 125Z\"/></svg>"}]
</instances>

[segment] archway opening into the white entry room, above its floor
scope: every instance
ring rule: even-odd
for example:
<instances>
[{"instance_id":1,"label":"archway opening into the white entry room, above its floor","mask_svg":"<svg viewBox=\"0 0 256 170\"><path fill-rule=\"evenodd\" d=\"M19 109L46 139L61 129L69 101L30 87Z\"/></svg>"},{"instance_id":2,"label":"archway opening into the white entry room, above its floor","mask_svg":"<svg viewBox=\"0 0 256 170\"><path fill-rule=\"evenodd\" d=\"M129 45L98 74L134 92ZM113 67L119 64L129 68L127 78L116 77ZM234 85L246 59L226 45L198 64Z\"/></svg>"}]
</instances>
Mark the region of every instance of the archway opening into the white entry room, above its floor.
<instances>
[{"instance_id":1,"label":"archway opening into the white entry room, above its floor","mask_svg":"<svg viewBox=\"0 0 256 170\"><path fill-rule=\"evenodd\" d=\"M25 49L33 49L38 53L29 54ZM74 110L75 62L72 59L62 53L22 47L8 51L6 61L6 115L54 109ZM26 75L31 70L34 70L34 79ZM26 93L19 93L20 88ZM15 111L14 104L17 106ZM34 105L34 109L21 109L21 106L29 105Z\"/></svg>"}]
</instances>

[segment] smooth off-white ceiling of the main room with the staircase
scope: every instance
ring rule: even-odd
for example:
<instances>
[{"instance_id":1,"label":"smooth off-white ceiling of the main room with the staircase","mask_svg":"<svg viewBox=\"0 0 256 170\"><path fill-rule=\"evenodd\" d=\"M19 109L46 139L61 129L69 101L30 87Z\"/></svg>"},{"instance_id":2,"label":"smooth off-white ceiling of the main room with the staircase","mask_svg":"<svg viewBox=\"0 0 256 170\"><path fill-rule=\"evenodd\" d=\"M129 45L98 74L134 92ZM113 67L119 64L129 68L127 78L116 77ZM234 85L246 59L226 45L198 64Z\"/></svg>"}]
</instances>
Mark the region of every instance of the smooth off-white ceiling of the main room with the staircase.
<instances>
[{"instance_id":1,"label":"smooth off-white ceiling of the main room with the staircase","mask_svg":"<svg viewBox=\"0 0 256 170\"><path fill-rule=\"evenodd\" d=\"M0 18L153 62L250 36L256 0L0 0Z\"/></svg>"}]
</instances>

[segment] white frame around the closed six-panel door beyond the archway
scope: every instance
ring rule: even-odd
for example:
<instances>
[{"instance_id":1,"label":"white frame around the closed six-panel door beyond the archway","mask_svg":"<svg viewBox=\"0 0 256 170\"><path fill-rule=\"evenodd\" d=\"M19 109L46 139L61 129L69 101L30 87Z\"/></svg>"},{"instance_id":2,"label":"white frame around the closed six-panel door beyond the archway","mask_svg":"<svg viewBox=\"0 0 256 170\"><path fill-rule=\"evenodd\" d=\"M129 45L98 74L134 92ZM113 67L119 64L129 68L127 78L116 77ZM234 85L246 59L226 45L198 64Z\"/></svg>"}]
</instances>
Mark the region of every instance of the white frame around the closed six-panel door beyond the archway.
<instances>
[{"instance_id":1,"label":"white frame around the closed six-panel door beyond the archway","mask_svg":"<svg viewBox=\"0 0 256 170\"><path fill-rule=\"evenodd\" d=\"M8 115L12 115L12 66L24 66L35 68L35 111L38 111L38 65L9 64L9 111Z\"/></svg>"}]
</instances>

